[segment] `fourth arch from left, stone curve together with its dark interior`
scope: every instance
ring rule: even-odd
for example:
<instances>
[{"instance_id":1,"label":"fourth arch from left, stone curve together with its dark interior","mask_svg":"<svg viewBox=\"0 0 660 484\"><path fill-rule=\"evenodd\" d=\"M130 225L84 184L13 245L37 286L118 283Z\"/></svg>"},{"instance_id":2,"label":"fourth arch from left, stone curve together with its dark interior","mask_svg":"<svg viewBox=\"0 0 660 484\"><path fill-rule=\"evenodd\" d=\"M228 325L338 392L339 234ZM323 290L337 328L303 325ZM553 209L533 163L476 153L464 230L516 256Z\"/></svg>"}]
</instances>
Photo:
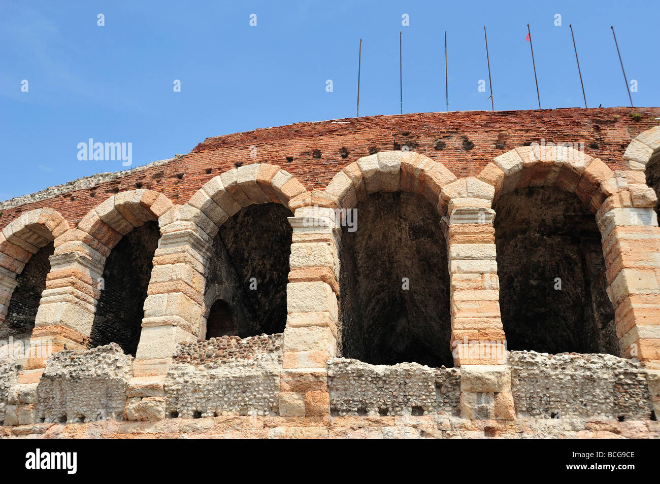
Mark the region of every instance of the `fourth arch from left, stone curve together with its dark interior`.
<instances>
[{"instance_id":1,"label":"fourth arch from left, stone curve together with its dark interior","mask_svg":"<svg viewBox=\"0 0 660 484\"><path fill-rule=\"evenodd\" d=\"M349 164L324 191L312 193L312 204L339 209L343 216L360 207L359 228L341 224L341 250L329 245L335 253L327 260L337 280L327 274L321 278L330 280L339 297L337 349L345 357L374 364L452 365L446 237L440 221L447 213L442 190L455 180L442 163L424 154L380 152ZM394 272L401 274L393 278ZM413 320L417 324L409 324Z\"/></svg>"}]
</instances>

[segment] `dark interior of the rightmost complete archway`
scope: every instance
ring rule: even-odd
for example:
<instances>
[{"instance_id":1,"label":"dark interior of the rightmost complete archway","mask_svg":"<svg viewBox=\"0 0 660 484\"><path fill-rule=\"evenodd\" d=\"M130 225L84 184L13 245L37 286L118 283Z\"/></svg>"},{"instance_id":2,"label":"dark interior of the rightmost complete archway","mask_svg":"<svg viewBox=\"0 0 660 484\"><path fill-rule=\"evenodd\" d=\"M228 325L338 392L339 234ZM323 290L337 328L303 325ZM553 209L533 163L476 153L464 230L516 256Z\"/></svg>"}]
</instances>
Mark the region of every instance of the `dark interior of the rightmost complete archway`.
<instances>
[{"instance_id":1,"label":"dark interior of the rightmost complete archway","mask_svg":"<svg viewBox=\"0 0 660 484\"><path fill-rule=\"evenodd\" d=\"M601 233L589 208L574 193L545 187L503 195L494 208L508 349L618 355Z\"/></svg>"}]
</instances>

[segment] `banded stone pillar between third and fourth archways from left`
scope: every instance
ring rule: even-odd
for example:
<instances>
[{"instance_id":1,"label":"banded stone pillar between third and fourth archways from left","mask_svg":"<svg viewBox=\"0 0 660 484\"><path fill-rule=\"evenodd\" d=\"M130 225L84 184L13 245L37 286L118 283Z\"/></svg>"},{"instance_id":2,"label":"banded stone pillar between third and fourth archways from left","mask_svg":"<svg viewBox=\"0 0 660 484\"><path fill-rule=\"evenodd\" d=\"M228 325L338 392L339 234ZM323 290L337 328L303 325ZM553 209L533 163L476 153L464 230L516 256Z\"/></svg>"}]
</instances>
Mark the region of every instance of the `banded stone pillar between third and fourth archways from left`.
<instances>
[{"instance_id":1,"label":"banded stone pillar between third and fourth archways from left","mask_svg":"<svg viewBox=\"0 0 660 484\"><path fill-rule=\"evenodd\" d=\"M332 208L296 209L279 398L285 417L329 415L326 361L337 353L339 228Z\"/></svg>"}]
</instances>

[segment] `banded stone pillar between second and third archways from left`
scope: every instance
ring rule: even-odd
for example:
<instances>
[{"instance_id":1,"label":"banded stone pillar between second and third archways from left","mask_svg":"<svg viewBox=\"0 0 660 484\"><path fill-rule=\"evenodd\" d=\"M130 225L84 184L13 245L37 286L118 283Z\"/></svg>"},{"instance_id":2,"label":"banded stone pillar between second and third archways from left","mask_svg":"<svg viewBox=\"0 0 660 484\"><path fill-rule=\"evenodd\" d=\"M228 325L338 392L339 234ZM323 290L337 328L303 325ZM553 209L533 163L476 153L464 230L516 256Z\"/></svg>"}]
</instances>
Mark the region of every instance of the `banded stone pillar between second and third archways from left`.
<instances>
[{"instance_id":1,"label":"banded stone pillar between second and third archways from left","mask_svg":"<svg viewBox=\"0 0 660 484\"><path fill-rule=\"evenodd\" d=\"M174 206L158 219L161 237L127 390L127 420L165 417L164 381L180 342L199 338L205 270L218 227L197 208Z\"/></svg>"}]
</instances>

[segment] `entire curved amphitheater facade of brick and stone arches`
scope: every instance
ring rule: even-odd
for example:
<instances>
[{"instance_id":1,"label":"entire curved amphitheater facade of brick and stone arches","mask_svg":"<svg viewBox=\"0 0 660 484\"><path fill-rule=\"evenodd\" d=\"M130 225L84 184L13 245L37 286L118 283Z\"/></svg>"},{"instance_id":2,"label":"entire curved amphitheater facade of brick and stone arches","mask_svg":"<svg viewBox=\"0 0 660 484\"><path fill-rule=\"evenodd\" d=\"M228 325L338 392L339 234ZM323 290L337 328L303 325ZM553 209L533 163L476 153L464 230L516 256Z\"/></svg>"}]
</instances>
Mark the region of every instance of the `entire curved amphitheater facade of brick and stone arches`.
<instances>
[{"instance_id":1,"label":"entire curved amphitheater facade of brick and stone arches","mask_svg":"<svg viewBox=\"0 0 660 484\"><path fill-rule=\"evenodd\" d=\"M0 436L658 438L659 125L298 123L1 202Z\"/></svg>"}]
</instances>

